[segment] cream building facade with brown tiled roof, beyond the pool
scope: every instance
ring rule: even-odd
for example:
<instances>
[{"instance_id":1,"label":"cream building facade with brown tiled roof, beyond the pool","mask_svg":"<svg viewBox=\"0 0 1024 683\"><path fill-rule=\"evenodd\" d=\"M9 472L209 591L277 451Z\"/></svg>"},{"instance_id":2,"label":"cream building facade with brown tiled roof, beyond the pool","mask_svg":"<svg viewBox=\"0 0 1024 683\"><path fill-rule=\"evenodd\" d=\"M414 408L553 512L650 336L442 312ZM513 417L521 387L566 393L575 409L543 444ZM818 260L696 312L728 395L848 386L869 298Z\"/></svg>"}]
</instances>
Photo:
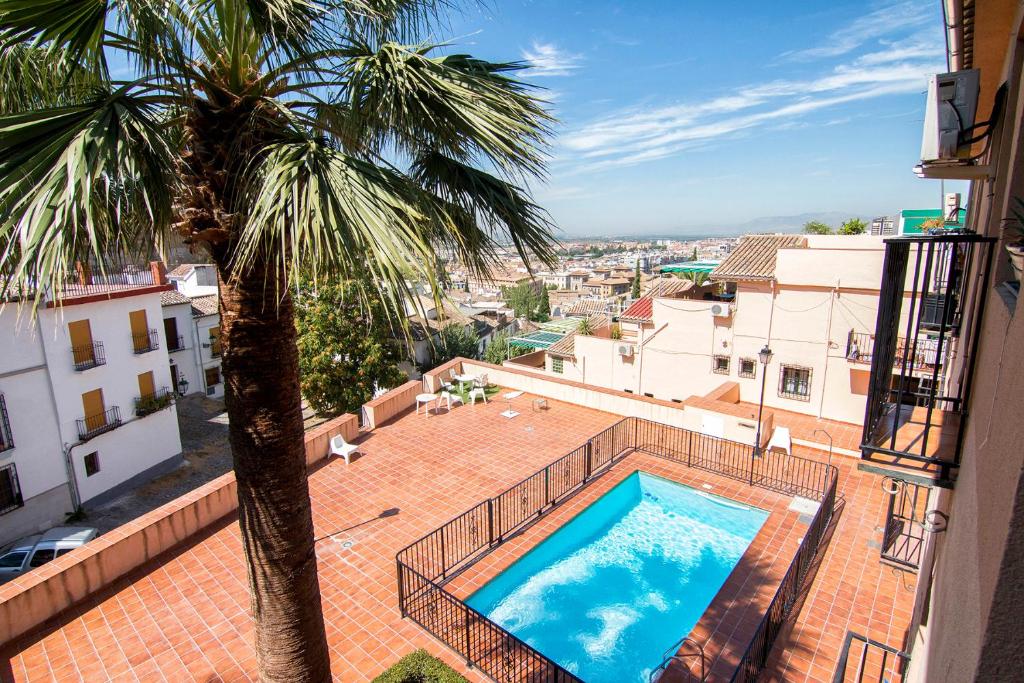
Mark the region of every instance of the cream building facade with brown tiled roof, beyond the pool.
<instances>
[{"instance_id":1,"label":"cream building facade with brown tiled roof, beyond the pool","mask_svg":"<svg viewBox=\"0 0 1024 683\"><path fill-rule=\"evenodd\" d=\"M608 327L549 349L546 371L676 402L725 381L759 402L764 379L766 405L859 423L883 257L869 236L744 238L713 273L725 296L659 288L623 311L617 334Z\"/></svg>"}]
</instances>

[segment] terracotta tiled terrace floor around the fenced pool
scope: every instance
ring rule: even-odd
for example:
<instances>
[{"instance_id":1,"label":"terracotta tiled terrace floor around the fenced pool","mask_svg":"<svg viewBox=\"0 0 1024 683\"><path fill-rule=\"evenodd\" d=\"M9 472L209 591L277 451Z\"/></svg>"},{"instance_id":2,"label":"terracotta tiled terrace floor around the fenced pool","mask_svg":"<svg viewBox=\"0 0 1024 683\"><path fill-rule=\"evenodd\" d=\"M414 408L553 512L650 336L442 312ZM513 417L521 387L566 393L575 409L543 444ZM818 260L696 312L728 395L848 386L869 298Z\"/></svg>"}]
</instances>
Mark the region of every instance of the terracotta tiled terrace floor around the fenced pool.
<instances>
[{"instance_id":1,"label":"terracotta tiled terrace floor around the fenced pool","mask_svg":"<svg viewBox=\"0 0 1024 683\"><path fill-rule=\"evenodd\" d=\"M395 553L475 503L541 469L620 416L549 400L550 410L502 418L503 401L412 410L362 435L362 456L331 460L310 475L321 589L336 680L369 680L424 647L483 680L416 625L400 618ZM776 424L784 425L785 417ZM795 436L796 436L795 430ZM821 458L797 446L796 455ZM879 563L885 495L876 475L837 457L845 506L796 625L776 646L770 680L825 681L848 629L901 645L913 581ZM734 661L802 533L790 499L662 459L633 454L461 577L468 591L527 551L617 480L644 469L766 507L772 516L696 634ZM388 514L382 515L385 511ZM395 512L396 511L396 512ZM255 677L251 617L238 523L229 519L144 566L87 603L7 644L4 681L202 680ZM720 613L718 613L720 612ZM679 634L680 636L683 634Z\"/></svg>"}]
</instances>

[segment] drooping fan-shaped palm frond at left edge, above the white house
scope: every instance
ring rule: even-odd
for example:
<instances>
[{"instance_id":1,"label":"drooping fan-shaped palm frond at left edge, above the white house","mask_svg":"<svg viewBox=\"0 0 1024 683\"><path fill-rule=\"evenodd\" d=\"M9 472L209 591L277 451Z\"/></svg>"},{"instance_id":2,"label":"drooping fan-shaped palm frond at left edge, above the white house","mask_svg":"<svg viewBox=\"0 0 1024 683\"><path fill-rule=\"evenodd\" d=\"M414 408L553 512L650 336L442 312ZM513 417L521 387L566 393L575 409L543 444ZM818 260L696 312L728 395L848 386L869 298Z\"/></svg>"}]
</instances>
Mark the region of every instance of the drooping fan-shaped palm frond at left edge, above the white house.
<instances>
[{"instance_id":1,"label":"drooping fan-shaped palm frond at left edge, above the white house","mask_svg":"<svg viewBox=\"0 0 1024 683\"><path fill-rule=\"evenodd\" d=\"M124 88L0 117L2 287L58 287L77 259L140 246L170 223L170 129Z\"/></svg>"}]
</instances>

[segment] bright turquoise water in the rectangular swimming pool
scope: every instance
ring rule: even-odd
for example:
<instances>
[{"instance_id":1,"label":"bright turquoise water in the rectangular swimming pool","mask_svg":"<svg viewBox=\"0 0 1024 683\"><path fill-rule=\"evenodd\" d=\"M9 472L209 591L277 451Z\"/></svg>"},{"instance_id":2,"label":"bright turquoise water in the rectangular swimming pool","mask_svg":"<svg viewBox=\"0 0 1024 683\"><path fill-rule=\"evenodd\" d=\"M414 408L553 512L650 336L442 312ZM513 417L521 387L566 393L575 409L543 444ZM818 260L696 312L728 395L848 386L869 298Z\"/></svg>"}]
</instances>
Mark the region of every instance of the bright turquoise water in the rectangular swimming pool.
<instances>
[{"instance_id":1,"label":"bright turquoise water in the rectangular swimming pool","mask_svg":"<svg viewBox=\"0 0 1024 683\"><path fill-rule=\"evenodd\" d=\"M636 472L467 602L588 683L645 682L767 517Z\"/></svg>"}]
</instances>

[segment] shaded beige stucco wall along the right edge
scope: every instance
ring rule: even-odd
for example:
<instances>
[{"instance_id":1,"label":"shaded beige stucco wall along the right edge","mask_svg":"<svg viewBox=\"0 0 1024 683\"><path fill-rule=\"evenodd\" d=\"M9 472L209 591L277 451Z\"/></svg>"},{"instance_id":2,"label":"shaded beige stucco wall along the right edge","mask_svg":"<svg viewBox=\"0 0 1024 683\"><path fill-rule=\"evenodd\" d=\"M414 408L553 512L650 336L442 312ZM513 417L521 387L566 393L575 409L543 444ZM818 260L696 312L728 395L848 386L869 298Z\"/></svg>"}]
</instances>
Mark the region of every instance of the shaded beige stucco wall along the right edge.
<instances>
[{"instance_id":1,"label":"shaded beige stucco wall along the right edge","mask_svg":"<svg viewBox=\"0 0 1024 683\"><path fill-rule=\"evenodd\" d=\"M980 3L979 3L980 4ZM1019 34L1014 3L979 6L979 57L999 49L992 36ZM1004 15L996 20L999 9ZM994 13L993 13L994 12ZM1008 17L1015 16L1012 20ZM986 40L987 39L987 40ZM1002 79L1013 88L1004 126L992 143L991 183L975 182L969 226L998 237L1011 200L1024 197L1021 48L1011 38ZM1016 50L1016 54L1014 54ZM983 73L983 77L985 74ZM989 75L990 78L990 75ZM1000 80L1002 80L1000 79ZM944 508L948 528L936 538L931 592L915 606L921 628L912 640L909 681L1020 680L1024 670L1020 620L1024 614L1024 305L996 287L1010 278L1004 242L996 246L965 426L963 466Z\"/></svg>"}]
</instances>

